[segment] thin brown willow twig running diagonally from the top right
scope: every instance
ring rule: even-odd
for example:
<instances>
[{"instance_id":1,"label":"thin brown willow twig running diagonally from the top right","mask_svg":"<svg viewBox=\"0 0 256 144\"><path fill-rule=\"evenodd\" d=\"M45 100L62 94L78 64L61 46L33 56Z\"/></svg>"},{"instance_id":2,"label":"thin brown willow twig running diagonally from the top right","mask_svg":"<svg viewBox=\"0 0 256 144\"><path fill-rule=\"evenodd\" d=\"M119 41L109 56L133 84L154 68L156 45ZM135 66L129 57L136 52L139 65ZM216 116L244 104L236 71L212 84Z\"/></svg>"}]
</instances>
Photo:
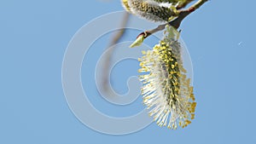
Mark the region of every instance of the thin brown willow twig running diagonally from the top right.
<instances>
[{"instance_id":1,"label":"thin brown willow twig running diagonally from the top right","mask_svg":"<svg viewBox=\"0 0 256 144\"><path fill-rule=\"evenodd\" d=\"M191 7L189 7L189 9L177 10L178 16L176 19L174 19L166 24L157 26L153 30L148 30L148 31L142 32L137 37L143 36L144 38L147 38L148 36L154 34L155 32L160 32L160 31L164 30L166 25L173 26L177 29L181 25L181 23L185 17L187 17L192 12L194 12L196 9L199 9L201 7L201 5L203 5L207 1L208 0L198 0L195 4L193 4Z\"/></svg>"}]
</instances>

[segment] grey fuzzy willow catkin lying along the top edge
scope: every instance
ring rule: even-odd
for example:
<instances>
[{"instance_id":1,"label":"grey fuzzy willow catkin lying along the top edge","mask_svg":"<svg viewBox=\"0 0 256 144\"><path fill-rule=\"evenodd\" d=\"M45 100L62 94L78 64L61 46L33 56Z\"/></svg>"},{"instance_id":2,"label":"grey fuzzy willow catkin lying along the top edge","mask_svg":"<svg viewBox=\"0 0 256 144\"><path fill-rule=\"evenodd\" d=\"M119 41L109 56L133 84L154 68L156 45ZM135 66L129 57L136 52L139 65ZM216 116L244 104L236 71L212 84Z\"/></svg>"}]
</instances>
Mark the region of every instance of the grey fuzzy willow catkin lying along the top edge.
<instances>
[{"instance_id":1,"label":"grey fuzzy willow catkin lying along the top edge","mask_svg":"<svg viewBox=\"0 0 256 144\"><path fill-rule=\"evenodd\" d=\"M170 8L172 3L158 3L154 0L122 0L122 4L131 14L147 20L164 22L176 15Z\"/></svg>"}]
</instances>

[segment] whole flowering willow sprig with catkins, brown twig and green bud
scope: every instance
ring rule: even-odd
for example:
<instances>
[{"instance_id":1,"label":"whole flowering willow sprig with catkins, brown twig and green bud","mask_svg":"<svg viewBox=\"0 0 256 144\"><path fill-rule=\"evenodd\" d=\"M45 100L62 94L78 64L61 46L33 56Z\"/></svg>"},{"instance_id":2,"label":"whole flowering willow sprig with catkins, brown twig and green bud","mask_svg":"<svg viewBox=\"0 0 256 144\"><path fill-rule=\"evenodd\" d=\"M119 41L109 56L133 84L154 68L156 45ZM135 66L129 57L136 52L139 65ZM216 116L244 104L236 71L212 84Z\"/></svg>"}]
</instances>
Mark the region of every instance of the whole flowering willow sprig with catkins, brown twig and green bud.
<instances>
[{"instance_id":1,"label":"whole flowering willow sprig with catkins, brown twig and green bud","mask_svg":"<svg viewBox=\"0 0 256 144\"><path fill-rule=\"evenodd\" d=\"M164 22L153 30L145 31L131 44L140 46L144 38L154 32L166 29L165 35L153 49L143 51L139 59L140 80L143 82L141 93L149 115L160 126L176 130L184 128L195 118L195 96L190 78L183 67L177 28L182 20L199 9L208 0L198 0L189 9L183 9L193 0L121 0L124 8L131 14L144 19Z\"/></svg>"}]
</instances>

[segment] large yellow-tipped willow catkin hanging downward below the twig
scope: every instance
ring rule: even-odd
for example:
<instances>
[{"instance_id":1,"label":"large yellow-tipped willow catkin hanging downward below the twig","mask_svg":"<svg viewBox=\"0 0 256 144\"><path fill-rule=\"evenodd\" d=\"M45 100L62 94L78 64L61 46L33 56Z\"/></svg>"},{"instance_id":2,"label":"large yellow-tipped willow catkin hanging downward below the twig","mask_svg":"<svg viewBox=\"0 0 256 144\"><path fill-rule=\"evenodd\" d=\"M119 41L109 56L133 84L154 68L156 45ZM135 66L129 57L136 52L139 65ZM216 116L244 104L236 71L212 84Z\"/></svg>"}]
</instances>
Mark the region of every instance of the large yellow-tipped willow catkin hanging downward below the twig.
<instances>
[{"instance_id":1,"label":"large yellow-tipped willow catkin hanging downward below the twig","mask_svg":"<svg viewBox=\"0 0 256 144\"><path fill-rule=\"evenodd\" d=\"M154 49L143 52L139 59L143 82L143 103L149 115L160 126L177 129L186 127L195 118L195 96L186 77L180 50L173 37L174 28L166 27L166 36Z\"/></svg>"}]
</instances>

